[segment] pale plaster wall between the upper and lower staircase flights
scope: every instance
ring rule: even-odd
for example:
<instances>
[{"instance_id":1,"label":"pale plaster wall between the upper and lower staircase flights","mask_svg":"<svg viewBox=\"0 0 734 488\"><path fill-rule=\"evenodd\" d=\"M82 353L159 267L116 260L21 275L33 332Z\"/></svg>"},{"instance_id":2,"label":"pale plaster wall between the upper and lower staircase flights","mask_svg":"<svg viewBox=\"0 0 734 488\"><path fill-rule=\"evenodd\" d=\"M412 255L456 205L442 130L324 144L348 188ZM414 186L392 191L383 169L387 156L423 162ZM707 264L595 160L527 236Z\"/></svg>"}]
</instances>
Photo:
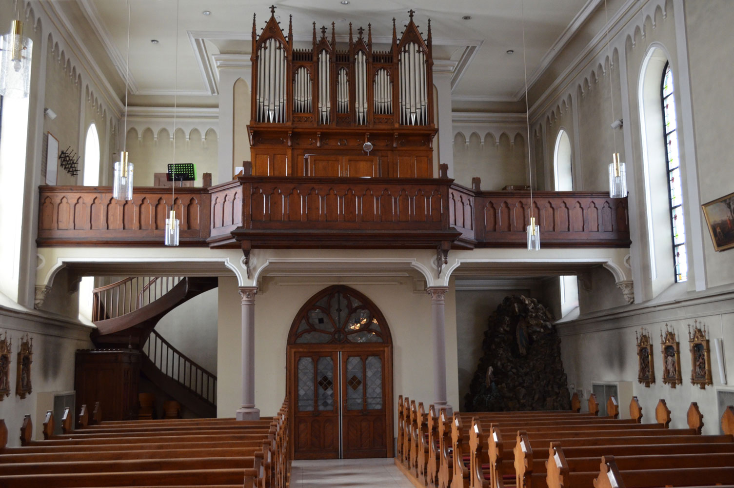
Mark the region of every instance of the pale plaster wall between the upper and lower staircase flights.
<instances>
[{"instance_id":1,"label":"pale plaster wall between the upper and lower staircase flights","mask_svg":"<svg viewBox=\"0 0 734 488\"><path fill-rule=\"evenodd\" d=\"M196 295L172 309L156 331L194 362L217 374L217 288Z\"/></svg>"}]
</instances>

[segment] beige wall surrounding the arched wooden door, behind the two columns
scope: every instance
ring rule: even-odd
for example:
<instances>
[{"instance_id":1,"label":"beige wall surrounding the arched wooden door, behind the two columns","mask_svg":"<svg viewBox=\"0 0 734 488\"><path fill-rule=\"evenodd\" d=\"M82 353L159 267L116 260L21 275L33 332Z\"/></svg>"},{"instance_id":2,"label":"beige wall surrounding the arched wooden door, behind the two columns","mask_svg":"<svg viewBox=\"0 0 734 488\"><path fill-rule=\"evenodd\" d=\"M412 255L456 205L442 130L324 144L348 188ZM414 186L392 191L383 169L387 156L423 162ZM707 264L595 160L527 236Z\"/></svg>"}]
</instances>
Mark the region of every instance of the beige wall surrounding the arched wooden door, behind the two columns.
<instances>
[{"instance_id":1,"label":"beige wall surrounding the arched wooden door, behind the two columns","mask_svg":"<svg viewBox=\"0 0 734 488\"><path fill-rule=\"evenodd\" d=\"M286 344L291 322L300 307L319 290L340 282L298 283L265 279L255 296L255 403L261 415L277 412L286 395ZM433 395L431 301L413 292L412 279L359 284L343 278L379 307L393 337L393 394L428 404ZM453 289L446 295L446 378L448 402L459 405L457 329ZM241 306L235 279L219 279L217 415L230 417L241 404ZM395 412L397 410L395 409Z\"/></svg>"}]
</instances>

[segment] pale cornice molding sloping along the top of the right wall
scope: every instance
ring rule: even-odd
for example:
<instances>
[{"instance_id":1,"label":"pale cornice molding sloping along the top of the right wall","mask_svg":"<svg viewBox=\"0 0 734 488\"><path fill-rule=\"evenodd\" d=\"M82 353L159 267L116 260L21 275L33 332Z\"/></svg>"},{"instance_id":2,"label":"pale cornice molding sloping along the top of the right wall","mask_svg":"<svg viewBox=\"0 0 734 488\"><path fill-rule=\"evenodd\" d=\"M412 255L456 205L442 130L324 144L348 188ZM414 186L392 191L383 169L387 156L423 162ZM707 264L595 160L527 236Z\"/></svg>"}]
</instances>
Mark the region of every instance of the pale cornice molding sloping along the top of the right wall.
<instances>
[{"instance_id":1,"label":"pale cornice molding sloping along the top of the right wall","mask_svg":"<svg viewBox=\"0 0 734 488\"><path fill-rule=\"evenodd\" d=\"M543 105L547 104L549 100L555 98L555 96L557 95L556 90L558 90L558 88L564 83L565 80L575 79L575 77L584 70L586 65L589 64L590 60L593 57L601 54L601 51L597 51L597 47L606 37L606 32L611 31L612 29L617 29L617 32L615 32L613 35L610 33L611 43L612 40L614 40L614 37L616 37L619 32L622 31L623 27L632 20L634 15L642 10L642 6L644 4L647 4L647 0L626 0L625 4L623 4L622 7L619 7L619 10L617 10L617 12L614 12L614 15L612 15L611 18L608 19L608 22L605 24L603 29L601 29L600 32L597 32L597 35L595 35L592 40L590 40L589 43L586 44L584 49L582 49L581 52L578 53L574 60L566 66L566 68L559 74L559 76L556 76L556 79L553 80L553 83L551 83L551 85L549 85L548 88L545 89L542 95L539 96L538 99L532 104L532 106L530 107L530 123L535 123L537 121L537 117L541 115L542 112L544 112ZM633 8L636 5L639 6L638 9Z\"/></svg>"}]
</instances>

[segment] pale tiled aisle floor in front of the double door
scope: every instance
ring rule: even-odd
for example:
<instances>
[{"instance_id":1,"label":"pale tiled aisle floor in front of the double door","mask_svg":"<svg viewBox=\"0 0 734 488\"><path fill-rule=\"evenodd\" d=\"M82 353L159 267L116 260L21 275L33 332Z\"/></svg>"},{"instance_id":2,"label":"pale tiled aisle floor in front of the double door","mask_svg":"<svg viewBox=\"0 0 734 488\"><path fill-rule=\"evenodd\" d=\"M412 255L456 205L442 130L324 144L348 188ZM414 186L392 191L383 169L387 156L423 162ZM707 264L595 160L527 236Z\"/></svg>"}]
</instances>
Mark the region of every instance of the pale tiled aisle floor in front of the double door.
<instances>
[{"instance_id":1,"label":"pale tiled aisle floor in front of the double door","mask_svg":"<svg viewBox=\"0 0 734 488\"><path fill-rule=\"evenodd\" d=\"M291 488L413 488L392 458L294 461Z\"/></svg>"}]
</instances>

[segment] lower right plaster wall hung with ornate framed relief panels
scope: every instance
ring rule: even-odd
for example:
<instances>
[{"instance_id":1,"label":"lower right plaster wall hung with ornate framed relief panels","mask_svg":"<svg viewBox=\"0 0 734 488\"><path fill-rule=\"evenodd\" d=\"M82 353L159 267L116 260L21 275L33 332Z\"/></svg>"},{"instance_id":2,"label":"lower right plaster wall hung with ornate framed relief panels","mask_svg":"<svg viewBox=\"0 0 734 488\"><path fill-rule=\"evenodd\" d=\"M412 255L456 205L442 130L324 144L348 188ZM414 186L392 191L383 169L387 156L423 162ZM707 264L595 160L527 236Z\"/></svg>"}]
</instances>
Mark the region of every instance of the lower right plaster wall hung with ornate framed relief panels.
<instances>
[{"instance_id":1,"label":"lower right plaster wall hung with ornate framed relief panels","mask_svg":"<svg viewBox=\"0 0 734 488\"><path fill-rule=\"evenodd\" d=\"M711 340L713 386L705 390L691 384L691 354L688 349L688 324L703 322ZM660 346L661 330L666 324L675 330L680 342L680 367L683 384L675 388L662 382L663 361ZM653 342L655 383L650 387L637 381L638 366L635 333L641 326L650 331ZM704 434L719 433L719 412L716 392L734 391L732 378L722 384L714 351L714 339L723 339L725 370L734 371L734 297L731 293L708 296L679 304L671 301L655 309L636 309L617 316L593 317L558 325L562 336L561 352L569 384L577 389L591 390L592 382L633 381L632 395L639 398L643 423L653 423L655 405L664 398L671 411L671 428L686 428L686 411L691 401L698 403L705 418ZM601 401L601 399L598 399ZM620 404L622 417L629 417L628 405Z\"/></svg>"}]
</instances>

